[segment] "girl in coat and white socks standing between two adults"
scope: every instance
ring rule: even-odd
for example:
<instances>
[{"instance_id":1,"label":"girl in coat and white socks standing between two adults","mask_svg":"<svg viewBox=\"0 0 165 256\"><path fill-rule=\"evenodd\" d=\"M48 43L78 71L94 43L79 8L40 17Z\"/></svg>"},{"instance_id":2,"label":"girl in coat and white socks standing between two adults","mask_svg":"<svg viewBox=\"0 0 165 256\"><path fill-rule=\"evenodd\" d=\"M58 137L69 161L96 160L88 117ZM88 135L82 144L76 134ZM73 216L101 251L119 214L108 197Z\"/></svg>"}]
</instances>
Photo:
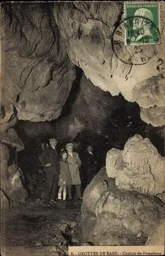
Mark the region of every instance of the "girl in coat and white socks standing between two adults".
<instances>
[{"instance_id":1,"label":"girl in coat and white socks standing between two adults","mask_svg":"<svg viewBox=\"0 0 165 256\"><path fill-rule=\"evenodd\" d=\"M67 152L62 151L60 154L60 176L59 176L60 188L59 188L58 200L62 199L61 196L63 192L63 201L66 200L66 187L72 184L67 157L68 157ZM70 198L70 195L69 195L69 198Z\"/></svg>"}]
</instances>

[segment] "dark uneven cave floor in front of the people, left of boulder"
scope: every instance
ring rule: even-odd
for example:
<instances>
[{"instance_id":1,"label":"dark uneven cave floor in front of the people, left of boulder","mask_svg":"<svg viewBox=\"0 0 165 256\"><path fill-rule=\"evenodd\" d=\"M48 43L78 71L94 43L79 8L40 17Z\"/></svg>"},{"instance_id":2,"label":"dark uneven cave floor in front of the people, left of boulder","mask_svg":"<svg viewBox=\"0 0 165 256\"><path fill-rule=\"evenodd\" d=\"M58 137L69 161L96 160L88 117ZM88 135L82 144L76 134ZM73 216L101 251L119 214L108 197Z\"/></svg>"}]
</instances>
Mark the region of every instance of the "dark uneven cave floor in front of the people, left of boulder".
<instances>
[{"instance_id":1,"label":"dark uneven cave floor in front of the people, left of boulder","mask_svg":"<svg viewBox=\"0 0 165 256\"><path fill-rule=\"evenodd\" d=\"M80 205L35 201L3 211L1 255L66 255L68 245L80 245Z\"/></svg>"}]
</instances>

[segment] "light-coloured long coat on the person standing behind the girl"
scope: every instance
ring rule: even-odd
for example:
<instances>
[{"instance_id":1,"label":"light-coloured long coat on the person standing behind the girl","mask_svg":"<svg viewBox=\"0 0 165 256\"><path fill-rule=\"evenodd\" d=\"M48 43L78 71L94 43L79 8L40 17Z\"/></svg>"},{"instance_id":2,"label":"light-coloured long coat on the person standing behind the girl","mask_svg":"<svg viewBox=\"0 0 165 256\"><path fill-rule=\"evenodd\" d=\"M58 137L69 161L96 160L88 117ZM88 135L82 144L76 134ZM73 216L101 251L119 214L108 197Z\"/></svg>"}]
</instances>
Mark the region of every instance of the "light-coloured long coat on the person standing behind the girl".
<instances>
[{"instance_id":1,"label":"light-coloured long coat on the person standing behind the girl","mask_svg":"<svg viewBox=\"0 0 165 256\"><path fill-rule=\"evenodd\" d=\"M72 178L72 185L81 184L80 176L79 176L79 167L81 165L81 160L79 159L78 153L72 152L73 157L68 153L68 164L70 175ZM76 164L78 167L76 167Z\"/></svg>"}]
</instances>

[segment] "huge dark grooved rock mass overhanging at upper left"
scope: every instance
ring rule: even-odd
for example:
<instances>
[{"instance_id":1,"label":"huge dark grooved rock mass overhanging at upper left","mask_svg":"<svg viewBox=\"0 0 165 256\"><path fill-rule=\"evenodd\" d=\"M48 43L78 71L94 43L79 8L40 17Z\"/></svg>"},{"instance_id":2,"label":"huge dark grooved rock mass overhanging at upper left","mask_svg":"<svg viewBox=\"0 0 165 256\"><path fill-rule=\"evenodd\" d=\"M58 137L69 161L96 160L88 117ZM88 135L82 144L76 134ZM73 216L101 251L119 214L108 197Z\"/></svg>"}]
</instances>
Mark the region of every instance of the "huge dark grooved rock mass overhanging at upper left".
<instances>
[{"instance_id":1,"label":"huge dark grooved rock mass overhanging at upper left","mask_svg":"<svg viewBox=\"0 0 165 256\"><path fill-rule=\"evenodd\" d=\"M2 105L8 109L14 105L18 119L58 118L75 70L51 4L4 3L1 7Z\"/></svg>"}]
</instances>

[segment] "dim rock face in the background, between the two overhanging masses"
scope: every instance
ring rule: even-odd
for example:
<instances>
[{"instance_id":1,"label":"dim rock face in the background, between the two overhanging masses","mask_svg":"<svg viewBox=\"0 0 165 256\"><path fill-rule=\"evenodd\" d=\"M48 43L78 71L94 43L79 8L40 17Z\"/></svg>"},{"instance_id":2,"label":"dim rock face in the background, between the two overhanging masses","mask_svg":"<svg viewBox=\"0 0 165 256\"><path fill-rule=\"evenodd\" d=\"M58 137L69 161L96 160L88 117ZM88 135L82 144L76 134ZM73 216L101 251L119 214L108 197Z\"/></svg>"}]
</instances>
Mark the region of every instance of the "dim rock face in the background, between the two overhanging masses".
<instances>
[{"instance_id":1,"label":"dim rock face in the background, between the two overhanging masses","mask_svg":"<svg viewBox=\"0 0 165 256\"><path fill-rule=\"evenodd\" d=\"M82 73L80 82L76 87L76 98L73 96L68 98L66 109L64 107L61 119L56 122L57 137L59 139L70 138L72 140L87 127L95 132L100 131L101 134L104 134L108 119L128 103L122 95L113 97L110 93L95 87L84 73ZM73 90L74 95L74 87ZM66 113L67 116L65 116Z\"/></svg>"}]
</instances>

